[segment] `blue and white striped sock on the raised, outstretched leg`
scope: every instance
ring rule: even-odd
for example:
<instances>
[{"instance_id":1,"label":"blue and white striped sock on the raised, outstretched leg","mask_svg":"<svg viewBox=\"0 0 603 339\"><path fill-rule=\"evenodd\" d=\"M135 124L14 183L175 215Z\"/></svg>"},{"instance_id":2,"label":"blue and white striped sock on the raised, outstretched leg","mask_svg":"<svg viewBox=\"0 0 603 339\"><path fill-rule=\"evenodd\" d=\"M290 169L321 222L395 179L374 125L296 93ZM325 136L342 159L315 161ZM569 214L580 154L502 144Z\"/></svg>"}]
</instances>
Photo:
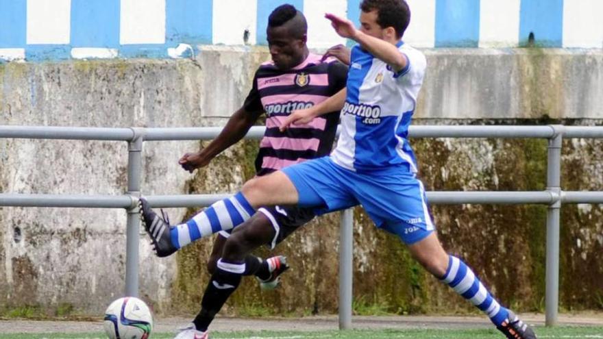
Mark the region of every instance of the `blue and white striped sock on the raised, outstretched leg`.
<instances>
[{"instance_id":1,"label":"blue and white striped sock on the raised, outstretched leg","mask_svg":"<svg viewBox=\"0 0 603 339\"><path fill-rule=\"evenodd\" d=\"M234 196L217 201L206 210L201 211L184 224L176 225L170 230L172 244L177 248L210 236L219 231L226 231L241 225L256 213L241 192Z\"/></svg>"}]
</instances>

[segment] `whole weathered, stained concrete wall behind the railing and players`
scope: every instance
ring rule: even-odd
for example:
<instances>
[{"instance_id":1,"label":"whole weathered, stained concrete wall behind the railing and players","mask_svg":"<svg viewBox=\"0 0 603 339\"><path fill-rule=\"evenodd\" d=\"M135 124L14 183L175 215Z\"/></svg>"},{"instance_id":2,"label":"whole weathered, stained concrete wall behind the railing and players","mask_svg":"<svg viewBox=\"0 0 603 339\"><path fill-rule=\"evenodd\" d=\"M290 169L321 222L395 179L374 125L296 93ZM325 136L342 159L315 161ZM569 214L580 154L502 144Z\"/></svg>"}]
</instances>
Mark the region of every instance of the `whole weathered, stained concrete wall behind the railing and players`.
<instances>
[{"instance_id":1,"label":"whole weathered, stained concrete wall behind the railing and players","mask_svg":"<svg viewBox=\"0 0 603 339\"><path fill-rule=\"evenodd\" d=\"M417 123L600 124L603 53L558 50L428 50ZM222 125L247 94L264 50L206 47L195 61L96 61L0 65L0 124L98 127ZM525 120L530 119L530 120ZM428 190L542 190L543 140L414 140ZM197 142L147 142L143 194L234 192L253 175L255 142L243 142L190 176L177 166ZM563 188L603 189L602 143L567 141ZM125 191L127 147L119 142L0 140L2 192ZM169 210L173 221L184 210ZM461 255L497 297L539 310L544 295L545 208L434 206L447 249ZM404 247L356 210L357 307L392 312L470 310L410 260ZM602 308L603 212L563 208L562 307ZM0 304L65 305L98 314L123 290L125 213L121 210L0 208ZM278 248L294 270L282 289L260 292L251 279L229 305L247 314L334 312L336 215L308 225ZM19 229L19 231L17 231ZM476 231L477 230L477 231ZM21 233L21 238L16 234ZM17 241L19 240L19 241ZM212 240L168 259L140 242L141 295L157 312L195 310L206 285ZM267 255L267 251L259 252ZM580 276L581 284L572 284ZM69 308L67 307L67 308Z\"/></svg>"}]
</instances>

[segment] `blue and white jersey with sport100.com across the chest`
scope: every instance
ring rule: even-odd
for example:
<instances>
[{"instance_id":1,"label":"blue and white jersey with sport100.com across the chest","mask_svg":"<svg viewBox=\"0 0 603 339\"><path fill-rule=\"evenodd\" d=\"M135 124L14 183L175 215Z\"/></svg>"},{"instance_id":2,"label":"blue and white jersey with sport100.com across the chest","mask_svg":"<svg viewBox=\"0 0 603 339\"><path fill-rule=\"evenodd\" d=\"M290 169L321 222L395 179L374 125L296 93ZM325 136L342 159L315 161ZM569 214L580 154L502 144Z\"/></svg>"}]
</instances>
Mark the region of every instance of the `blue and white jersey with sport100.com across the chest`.
<instances>
[{"instance_id":1,"label":"blue and white jersey with sport100.com across the chest","mask_svg":"<svg viewBox=\"0 0 603 339\"><path fill-rule=\"evenodd\" d=\"M406 137L427 62L417 49L397 47L408 60L398 73L358 45L352 49L341 135L331 154L336 164L352 171L406 165L417 172Z\"/></svg>"}]
</instances>

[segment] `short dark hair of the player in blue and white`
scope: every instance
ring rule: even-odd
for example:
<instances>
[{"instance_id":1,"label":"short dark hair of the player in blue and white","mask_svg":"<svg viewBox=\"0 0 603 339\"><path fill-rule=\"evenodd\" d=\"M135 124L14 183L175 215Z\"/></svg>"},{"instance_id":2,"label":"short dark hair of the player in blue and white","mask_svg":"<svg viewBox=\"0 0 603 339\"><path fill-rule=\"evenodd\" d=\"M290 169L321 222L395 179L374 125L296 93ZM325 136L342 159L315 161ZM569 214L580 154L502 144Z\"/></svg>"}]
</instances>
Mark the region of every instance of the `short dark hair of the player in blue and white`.
<instances>
[{"instance_id":1,"label":"short dark hair of the player in blue and white","mask_svg":"<svg viewBox=\"0 0 603 339\"><path fill-rule=\"evenodd\" d=\"M402 38L410 23L410 8L405 0L363 0L360 10L377 10L377 23L382 28L393 27L397 38Z\"/></svg>"}]
</instances>

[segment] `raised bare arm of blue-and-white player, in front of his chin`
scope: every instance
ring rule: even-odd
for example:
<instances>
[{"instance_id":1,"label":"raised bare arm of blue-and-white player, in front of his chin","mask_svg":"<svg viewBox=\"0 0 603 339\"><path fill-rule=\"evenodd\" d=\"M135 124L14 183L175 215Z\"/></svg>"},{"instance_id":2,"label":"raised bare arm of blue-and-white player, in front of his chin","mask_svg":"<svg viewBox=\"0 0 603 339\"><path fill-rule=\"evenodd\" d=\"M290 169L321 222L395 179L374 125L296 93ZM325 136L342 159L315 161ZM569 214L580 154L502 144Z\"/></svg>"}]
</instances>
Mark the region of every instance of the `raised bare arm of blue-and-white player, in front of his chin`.
<instances>
[{"instance_id":1,"label":"raised bare arm of blue-and-white player, in front of his chin","mask_svg":"<svg viewBox=\"0 0 603 339\"><path fill-rule=\"evenodd\" d=\"M340 18L330 13L325 14L325 18L331 21L331 25L339 36L358 42L362 49L369 51L376 58L389 64L394 71L398 72L406 67L407 60L395 45L360 32L354 27L354 23L346 18Z\"/></svg>"}]
</instances>

